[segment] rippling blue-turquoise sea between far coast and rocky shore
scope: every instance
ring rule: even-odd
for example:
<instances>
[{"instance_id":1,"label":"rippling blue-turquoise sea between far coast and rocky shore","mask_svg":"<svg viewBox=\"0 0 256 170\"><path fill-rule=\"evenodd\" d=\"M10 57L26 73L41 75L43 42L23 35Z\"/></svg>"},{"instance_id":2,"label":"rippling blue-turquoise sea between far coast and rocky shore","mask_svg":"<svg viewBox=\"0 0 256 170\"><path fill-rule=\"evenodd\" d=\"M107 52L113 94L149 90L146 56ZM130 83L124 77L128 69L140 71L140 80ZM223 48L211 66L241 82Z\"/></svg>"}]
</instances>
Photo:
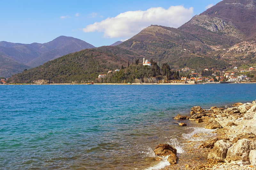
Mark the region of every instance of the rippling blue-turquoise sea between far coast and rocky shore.
<instances>
[{"instance_id":1,"label":"rippling blue-turquoise sea between far coast and rocky shore","mask_svg":"<svg viewBox=\"0 0 256 170\"><path fill-rule=\"evenodd\" d=\"M256 84L0 85L0 169L153 170L153 152L178 155L189 134L173 117L190 108L256 100Z\"/></svg>"}]
</instances>

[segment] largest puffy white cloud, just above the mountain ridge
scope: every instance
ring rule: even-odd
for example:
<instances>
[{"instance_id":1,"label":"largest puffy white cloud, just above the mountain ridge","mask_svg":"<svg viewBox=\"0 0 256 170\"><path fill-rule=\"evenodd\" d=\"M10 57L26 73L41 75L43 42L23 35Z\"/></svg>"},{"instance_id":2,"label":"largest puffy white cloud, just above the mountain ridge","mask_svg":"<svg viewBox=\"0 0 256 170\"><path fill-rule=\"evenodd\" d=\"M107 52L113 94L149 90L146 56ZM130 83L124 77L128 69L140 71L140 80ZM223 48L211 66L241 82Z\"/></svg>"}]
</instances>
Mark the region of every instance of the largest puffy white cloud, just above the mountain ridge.
<instances>
[{"instance_id":1,"label":"largest puffy white cloud, just above the mountain ridge","mask_svg":"<svg viewBox=\"0 0 256 170\"><path fill-rule=\"evenodd\" d=\"M171 6L168 9L157 7L149 8L147 11L127 11L116 17L88 25L83 28L83 31L85 33L104 32L104 37L109 38L127 38L151 24L177 28L192 18L193 10L192 7L187 9L183 6Z\"/></svg>"}]
</instances>

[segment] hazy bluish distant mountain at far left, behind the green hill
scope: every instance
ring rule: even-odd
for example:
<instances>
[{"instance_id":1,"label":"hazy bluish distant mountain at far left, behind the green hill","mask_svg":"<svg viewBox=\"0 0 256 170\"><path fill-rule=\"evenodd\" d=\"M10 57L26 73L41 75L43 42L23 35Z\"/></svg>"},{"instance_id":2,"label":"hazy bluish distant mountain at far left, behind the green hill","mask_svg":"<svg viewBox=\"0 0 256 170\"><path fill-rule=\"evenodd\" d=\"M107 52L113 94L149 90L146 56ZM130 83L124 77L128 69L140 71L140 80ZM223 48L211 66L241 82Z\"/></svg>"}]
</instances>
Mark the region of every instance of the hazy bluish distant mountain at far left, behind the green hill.
<instances>
[{"instance_id":1,"label":"hazy bluish distant mountain at far left, behind the green hill","mask_svg":"<svg viewBox=\"0 0 256 170\"><path fill-rule=\"evenodd\" d=\"M80 51L85 48L95 47L85 41L66 36L57 37L56 39L43 44L21 44L0 41L0 57L2 61L0 62L0 76L9 77L13 73L23 71L24 68L28 69L36 67L62 55ZM8 62L11 60L7 60L6 57L13 62ZM12 68L15 69L13 70ZM5 71L3 72L2 70Z\"/></svg>"}]
</instances>

